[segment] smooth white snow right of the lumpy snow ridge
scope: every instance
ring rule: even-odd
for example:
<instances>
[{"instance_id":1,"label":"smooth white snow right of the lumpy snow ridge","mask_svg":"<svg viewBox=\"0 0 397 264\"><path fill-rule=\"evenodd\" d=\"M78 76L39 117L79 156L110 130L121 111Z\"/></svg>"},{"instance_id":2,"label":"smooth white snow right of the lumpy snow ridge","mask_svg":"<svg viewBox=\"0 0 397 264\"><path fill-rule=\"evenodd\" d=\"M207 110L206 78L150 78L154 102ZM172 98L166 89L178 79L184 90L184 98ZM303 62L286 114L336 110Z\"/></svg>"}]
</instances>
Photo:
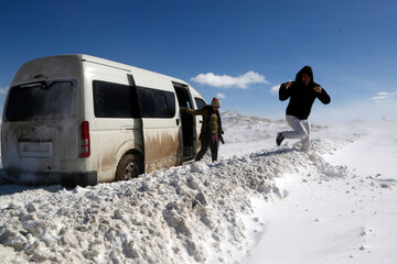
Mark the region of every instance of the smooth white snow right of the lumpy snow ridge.
<instances>
[{"instance_id":1,"label":"smooth white snow right of the lumpy snow ridge","mask_svg":"<svg viewBox=\"0 0 397 264\"><path fill-rule=\"evenodd\" d=\"M242 263L396 263L397 125L378 125L323 155L344 174L286 175L276 180L282 201L254 200L266 228Z\"/></svg>"}]
</instances>

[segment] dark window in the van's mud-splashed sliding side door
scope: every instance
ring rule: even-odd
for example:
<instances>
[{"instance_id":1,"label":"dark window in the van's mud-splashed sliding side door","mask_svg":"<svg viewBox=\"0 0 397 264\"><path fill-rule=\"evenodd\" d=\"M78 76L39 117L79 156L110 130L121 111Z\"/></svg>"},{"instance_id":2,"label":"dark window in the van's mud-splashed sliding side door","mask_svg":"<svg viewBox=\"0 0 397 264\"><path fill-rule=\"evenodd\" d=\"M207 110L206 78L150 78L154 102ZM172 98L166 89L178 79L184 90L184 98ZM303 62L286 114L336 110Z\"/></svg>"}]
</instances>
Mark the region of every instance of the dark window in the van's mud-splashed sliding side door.
<instances>
[{"instance_id":1,"label":"dark window in the van's mud-splashed sliding side door","mask_svg":"<svg viewBox=\"0 0 397 264\"><path fill-rule=\"evenodd\" d=\"M142 118L173 118L175 95L171 91L137 87Z\"/></svg>"}]
</instances>

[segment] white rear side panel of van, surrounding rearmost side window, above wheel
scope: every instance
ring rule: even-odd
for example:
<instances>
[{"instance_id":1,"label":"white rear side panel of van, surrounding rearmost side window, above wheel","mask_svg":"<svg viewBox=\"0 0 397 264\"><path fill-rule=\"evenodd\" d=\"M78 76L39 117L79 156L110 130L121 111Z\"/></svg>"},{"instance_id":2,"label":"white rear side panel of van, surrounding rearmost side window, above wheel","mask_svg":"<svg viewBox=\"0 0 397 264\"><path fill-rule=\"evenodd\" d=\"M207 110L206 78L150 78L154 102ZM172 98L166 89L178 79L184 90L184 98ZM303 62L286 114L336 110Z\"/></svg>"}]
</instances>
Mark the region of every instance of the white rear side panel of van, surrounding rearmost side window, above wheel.
<instances>
[{"instance_id":1,"label":"white rear side panel of van, surrounding rearmost side window, above wheel","mask_svg":"<svg viewBox=\"0 0 397 264\"><path fill-rule=\"evenodd\" d=\"M130 118L95 117L93 82L99 80L129 86L129 72L89 61L83 62L83 70L86 87L85 119L90 125L92 154L87 158L88 170L98 172L98 182L111 182L115 179L120 155L125 154L120 154L120 150L125 151L121 146L133 150L142 141L141 122Z\"/></svg>"}]
</instances>

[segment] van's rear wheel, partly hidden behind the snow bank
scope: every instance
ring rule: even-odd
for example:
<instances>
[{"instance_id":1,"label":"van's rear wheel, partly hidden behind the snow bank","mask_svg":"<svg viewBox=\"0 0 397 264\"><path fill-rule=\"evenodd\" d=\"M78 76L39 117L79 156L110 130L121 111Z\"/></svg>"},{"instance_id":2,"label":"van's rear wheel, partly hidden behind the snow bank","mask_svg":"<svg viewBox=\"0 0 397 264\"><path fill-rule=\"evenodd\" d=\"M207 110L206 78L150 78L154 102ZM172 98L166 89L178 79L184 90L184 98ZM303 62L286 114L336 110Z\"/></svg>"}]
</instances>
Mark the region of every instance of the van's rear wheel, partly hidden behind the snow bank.
<instances>
[{"instance_id":1,"label":"van's rear wheel, partly hidden behind the snow bank","mask_svg":"<svg viewBox=\"0 0 397 264\"><path fill-rule=\"evenodd\" d=\"M139 157L133 154L126 154L117 167L116 180L137 178L141 173L142 166Z\"/></svg>"}]
</instances>

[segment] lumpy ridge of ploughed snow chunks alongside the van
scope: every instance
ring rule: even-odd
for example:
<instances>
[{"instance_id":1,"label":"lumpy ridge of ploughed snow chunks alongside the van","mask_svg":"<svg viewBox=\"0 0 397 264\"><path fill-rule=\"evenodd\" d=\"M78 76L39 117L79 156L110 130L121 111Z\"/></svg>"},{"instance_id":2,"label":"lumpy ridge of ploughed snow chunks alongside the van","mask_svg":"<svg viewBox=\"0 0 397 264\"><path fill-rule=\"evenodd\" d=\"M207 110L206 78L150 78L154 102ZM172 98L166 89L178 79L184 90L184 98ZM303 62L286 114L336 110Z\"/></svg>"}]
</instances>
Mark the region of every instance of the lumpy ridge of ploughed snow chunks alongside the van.
<instances>
[{"instance_id":1,"label":"lumpy ridge of ploughed snow chunks alongside the van","mask_svg":"<svg viewBox=\"0 0 397 264\"><path fill-rule=\"evenodd\" d=\"M2 186L0 256L12 251L36 262L229 263L254 244L244 220L251 198L286 195L275 178L305 169L344 175L321 151L326 148L314 142L310 155L283 147L87 188L10 194L12 187Z\"/></svg>"}]
</instances>

